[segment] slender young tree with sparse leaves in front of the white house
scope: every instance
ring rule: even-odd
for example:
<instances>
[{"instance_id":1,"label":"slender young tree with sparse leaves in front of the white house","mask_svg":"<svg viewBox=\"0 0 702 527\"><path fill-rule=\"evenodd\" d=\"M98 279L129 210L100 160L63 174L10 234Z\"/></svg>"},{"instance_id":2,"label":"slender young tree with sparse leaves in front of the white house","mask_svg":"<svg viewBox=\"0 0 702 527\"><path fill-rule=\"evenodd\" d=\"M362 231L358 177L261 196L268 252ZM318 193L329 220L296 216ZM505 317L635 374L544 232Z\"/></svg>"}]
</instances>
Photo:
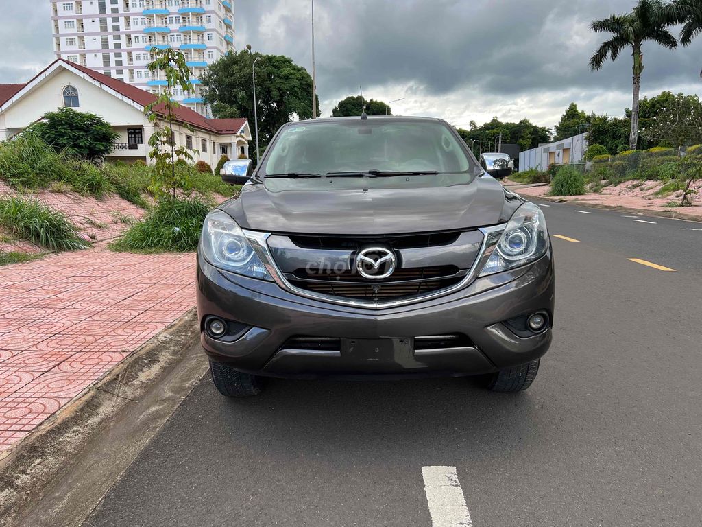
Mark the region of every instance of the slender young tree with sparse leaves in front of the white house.
<instances>
[{"instance_id":1,"label":"slender young tree with sparse leaves in front of the white house","mask_svg":"<svg viewBox=\"0 0 702 527\"><path fill-rule=\"evenodd\" d=\"M152 148L149 157L156 160L156 167L152 176L149 190L157 197L161 198L168 193L172 193L176 198L178 188L190 188L189 172L177 169L176 159L192 161L193 157L184 146L176 147L175 134L173 133L173 121L178 102L173 100L173 89L180 86L183 91L192 90L190 82L190 67L185 63L185 56L182 51L173 48L159 49L152 48L151 53L154 60L149 63L148 68L152 73L161 72L166 77L166 89L153 103L144 108L144 113L150 122L159 124L161 117L166 118L167 125L161 126L154 131L149 138L149 145ZM181 123L188 129L192 127ZM197 152L197 150L194 150Z\"/></svg>"}]
</instances>

